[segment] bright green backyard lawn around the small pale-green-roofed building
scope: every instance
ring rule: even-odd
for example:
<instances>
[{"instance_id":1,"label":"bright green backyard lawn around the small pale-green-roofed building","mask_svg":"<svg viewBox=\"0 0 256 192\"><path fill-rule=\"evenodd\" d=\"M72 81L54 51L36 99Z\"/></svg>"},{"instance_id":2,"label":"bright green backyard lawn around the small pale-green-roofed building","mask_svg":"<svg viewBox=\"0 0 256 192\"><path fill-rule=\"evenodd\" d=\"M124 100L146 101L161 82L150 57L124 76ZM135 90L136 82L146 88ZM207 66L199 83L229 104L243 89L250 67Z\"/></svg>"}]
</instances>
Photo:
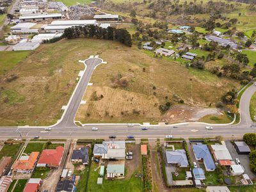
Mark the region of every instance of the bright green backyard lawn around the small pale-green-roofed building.
<instances>
[{"instance_id":1,"label":"bright green backyard lawn around the small pale-green-roofed building","mask_svg":"<svg viewBox=\"0 0 256 192\"><path fill-rule=\"evenodd\" d=\"M143 191L143 181L138 177L134 177L134 174L130 178L107 180L103 179L103 184L98 185L97 179L99 177L99 169L95 171L98 164L94 162L90 168L90 175L88 180L88 190L87 191L113 191L118 192L125 189L127 192L141 192Z\"/></svg>"}]
</instances>

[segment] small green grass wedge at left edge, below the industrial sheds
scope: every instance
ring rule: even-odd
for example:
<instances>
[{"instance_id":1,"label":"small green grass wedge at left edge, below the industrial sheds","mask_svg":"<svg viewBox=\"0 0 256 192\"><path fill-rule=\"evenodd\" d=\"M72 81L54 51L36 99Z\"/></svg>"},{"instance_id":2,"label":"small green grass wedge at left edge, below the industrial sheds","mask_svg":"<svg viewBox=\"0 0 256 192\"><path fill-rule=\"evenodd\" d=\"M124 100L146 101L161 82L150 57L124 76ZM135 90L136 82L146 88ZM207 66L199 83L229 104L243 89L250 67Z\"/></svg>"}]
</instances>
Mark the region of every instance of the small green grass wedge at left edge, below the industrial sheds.
<instances>
[{"instance_id":1,"label":"small green grass wedge at left edge, below the industrial sheds","mask_svg":"<svg viewBox=\"0 0 256 192\"><path fill-rule=\"evenodd\" d=\"M31 51L0 51L0 76L6 74L21 60L24 60Z\"/></svg>"}]
</instances>

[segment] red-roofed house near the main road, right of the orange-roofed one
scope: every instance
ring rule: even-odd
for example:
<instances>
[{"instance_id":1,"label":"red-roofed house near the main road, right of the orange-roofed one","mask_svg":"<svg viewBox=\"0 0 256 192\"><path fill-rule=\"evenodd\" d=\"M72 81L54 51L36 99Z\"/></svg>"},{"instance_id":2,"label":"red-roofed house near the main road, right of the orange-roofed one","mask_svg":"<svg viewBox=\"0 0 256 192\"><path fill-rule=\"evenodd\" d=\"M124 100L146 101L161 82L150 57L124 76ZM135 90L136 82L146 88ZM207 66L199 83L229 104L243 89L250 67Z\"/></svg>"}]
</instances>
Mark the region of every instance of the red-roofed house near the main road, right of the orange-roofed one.
<instances>
[{"instance_id":1,"label":"red-roofed house near the main road, right of the orange-roofed one","mask_svg":"<svg viewBox=\"0 0 256 192\"><path fill-rule=\"evenodd\" d=\"M44 149L38 160L37 166L58 167L63 156L64 147L58 146L56 149Z\"/></svg>"}]
</instances>

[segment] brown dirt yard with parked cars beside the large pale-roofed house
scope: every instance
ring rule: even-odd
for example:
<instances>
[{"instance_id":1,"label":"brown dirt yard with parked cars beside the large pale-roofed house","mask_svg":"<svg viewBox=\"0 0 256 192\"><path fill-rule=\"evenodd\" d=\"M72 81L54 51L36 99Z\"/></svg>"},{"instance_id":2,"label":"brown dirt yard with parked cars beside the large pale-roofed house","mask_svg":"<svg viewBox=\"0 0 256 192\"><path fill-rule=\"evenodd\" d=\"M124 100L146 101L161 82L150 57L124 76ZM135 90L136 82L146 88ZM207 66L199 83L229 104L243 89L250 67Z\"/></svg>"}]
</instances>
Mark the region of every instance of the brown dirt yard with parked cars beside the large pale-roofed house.
<instances>
[{"instance_id":1,"label":"brown dirt yard with parked cars beside the large pale-roofed house","mask_svg":"<svg viewBox=\"0 0 256 192\"><path fill-rule=\"evenodd\" d=\"M138 144L127 144L127 151L133 153L132 159L125 160L125 168L127 169L127 174L125 177L129 178L135 171L141 170L141 154L140 154L140 145Z\"/></svg>"}]
</instances>

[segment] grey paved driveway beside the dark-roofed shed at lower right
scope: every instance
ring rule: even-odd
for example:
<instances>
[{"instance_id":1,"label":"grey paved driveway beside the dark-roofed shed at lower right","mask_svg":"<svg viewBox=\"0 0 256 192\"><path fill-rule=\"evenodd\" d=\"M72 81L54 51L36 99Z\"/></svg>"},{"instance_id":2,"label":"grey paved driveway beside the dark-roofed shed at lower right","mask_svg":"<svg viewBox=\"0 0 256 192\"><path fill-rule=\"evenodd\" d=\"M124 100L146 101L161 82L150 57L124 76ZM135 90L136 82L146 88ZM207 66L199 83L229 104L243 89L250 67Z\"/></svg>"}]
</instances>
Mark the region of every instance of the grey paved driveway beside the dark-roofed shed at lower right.
<instances>
[{"instance_id":1,"label":"grey paved driveway beside the dark-roofed shed at lower right","mask_svg":"<svg viewBox=\"0 0 256 192\"><path fill-rule=\"evenodd\" d=\"M256 175L250 170L249 156L237 154L236 149L234 148L234 146L230 141L225 141L225 144L228 148L228 151L230 152L232 159L235 160L236 158L238 158L241 162L241 165L243 165L244 167L245 173L250 177L250 179L253 179L253 178L255 179Z\"/></svg>"}]
</instances>

